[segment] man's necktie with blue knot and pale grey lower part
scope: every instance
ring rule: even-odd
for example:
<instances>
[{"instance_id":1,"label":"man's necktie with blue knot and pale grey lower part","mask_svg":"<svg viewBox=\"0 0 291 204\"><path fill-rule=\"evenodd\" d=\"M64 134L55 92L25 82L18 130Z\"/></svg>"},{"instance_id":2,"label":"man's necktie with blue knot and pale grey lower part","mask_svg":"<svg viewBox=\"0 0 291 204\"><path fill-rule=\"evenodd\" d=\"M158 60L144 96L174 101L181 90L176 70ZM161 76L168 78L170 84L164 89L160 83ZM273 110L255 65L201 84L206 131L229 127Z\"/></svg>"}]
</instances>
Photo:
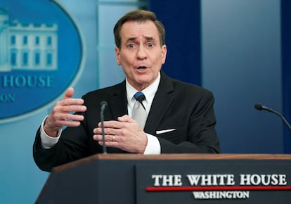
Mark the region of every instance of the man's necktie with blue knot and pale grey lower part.
<instances>
[{"instance_id":1,"label":"man's necktie with blue knot and pale grey lower part","mask_svg":"<svg viewBox=\"0 0 291 204\"><path fill-rule=\"evenodd\" d=\"M143 100L145 100L145 95L142 92L136 92L134 94L136 98L136 103L134 103L134 108L132 109L132 118L141 125L141 128L145 127L146 121L146 111L145 106L143 106Z\"/></svg>"}]
</instances>

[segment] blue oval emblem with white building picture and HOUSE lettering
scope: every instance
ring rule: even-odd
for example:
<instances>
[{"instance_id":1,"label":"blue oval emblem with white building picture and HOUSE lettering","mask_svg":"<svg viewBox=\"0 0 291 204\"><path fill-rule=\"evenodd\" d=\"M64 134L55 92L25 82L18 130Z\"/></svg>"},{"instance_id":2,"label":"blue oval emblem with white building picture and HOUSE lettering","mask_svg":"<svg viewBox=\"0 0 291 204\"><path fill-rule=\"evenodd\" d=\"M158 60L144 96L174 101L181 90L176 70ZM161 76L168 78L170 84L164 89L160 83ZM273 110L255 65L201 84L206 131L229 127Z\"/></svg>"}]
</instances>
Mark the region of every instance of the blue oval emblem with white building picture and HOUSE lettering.
<instances>
[{"instance_id":1,"label":"blue oval emblem with white building picture and HOUSE lettering","mask_svg":"<svg viewBox=\"0 0 291 204\"><path fill-rule=\"evenodd\" d=\"M0 0L0 123L55 101L83 63L82 36L63 7L55 1Z\"/></svg>"}]
</instances>

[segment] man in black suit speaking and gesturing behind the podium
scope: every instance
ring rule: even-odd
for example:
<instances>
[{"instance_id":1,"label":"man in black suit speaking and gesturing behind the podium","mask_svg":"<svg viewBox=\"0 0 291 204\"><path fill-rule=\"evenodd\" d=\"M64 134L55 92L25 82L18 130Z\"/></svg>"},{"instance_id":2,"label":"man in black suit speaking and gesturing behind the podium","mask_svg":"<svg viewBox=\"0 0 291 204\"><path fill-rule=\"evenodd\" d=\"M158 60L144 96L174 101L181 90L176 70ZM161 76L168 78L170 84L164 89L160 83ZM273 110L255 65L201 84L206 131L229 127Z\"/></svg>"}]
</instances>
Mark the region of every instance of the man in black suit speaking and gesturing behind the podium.
<instances>
[{"instance_id":1,"label":"man in black suit speaking and gesturing behind the podium","mask_svg":"<svg viewBox=\"0 0 291 204\"><path fill-rule=\"evenodd\" d=\"M126 79L82 98L72 98L74 89L67 89L37 131L33 153L39 168L51 171L54 166L102 153L102 101L108 103L104 111L108 153L219 153L214 97L206 89L162 72L167 46L164 26L155 14L129 12L119 19L114 34L117 64ZM147 115L144 128L132 118L138 91L145 96L141 102Z\"/></svg>"}]
</instances>

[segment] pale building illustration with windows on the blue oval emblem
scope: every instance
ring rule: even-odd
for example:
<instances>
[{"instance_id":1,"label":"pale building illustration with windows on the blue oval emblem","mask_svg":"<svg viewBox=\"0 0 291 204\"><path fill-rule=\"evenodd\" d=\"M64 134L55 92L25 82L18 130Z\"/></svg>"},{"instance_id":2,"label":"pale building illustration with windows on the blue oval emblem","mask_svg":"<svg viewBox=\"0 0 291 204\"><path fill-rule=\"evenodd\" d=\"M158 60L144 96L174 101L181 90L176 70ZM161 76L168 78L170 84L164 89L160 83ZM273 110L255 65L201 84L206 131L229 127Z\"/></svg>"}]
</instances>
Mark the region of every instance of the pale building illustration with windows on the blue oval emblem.
<instances>
[{"instance_id":1,"label":"pale building illustration with windows on the blue oval emblem","mask_svg":"<svg viewBox=\"0 0 291 204\"><path fill-rule=\"evenodd\" d=\"M9 20L0 8L0 72L57 70L58 25Z\"/></svg>"}]
</instances>

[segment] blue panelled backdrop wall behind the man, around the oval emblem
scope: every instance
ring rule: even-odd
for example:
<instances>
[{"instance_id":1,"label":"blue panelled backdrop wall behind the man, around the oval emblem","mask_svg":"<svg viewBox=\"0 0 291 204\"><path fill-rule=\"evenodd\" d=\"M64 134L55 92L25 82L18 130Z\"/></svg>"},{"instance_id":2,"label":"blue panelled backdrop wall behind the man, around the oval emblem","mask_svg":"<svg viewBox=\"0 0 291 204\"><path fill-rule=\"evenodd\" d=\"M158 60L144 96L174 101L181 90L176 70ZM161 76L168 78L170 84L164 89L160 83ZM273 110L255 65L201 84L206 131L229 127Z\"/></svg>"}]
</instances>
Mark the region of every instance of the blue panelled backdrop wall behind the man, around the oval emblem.
<instances>
[{"instance_id":1,"label":"blue panelled backdrop wall behind the man, around the oval emblem","mask_svg":"<svg viewBox=\"0 0 291 204\"><path fill-rule=\"evenodd\" d=\"M0 0L0 8L5 2ZM27 0L27 4L34 2ZM112 28L124 13L148 8L155 11L167 30L164 71L214 93L222 153L290 153L291 144L286 144L288 137L280 118L254 110L254 103L264 103L280 113L285 110L282 68L288 63L282 60L281 1L58 0L58 3L75 18L84 36L84 69L71 84L75 97L124 79L122 69L115 63ZM37 98L32 98L32 103L34 100ZM34 164L32 144L52 106L20 120L0 123L0 203L34 203L44 186L48 173Z\"/></svg>"}]
</instances>

